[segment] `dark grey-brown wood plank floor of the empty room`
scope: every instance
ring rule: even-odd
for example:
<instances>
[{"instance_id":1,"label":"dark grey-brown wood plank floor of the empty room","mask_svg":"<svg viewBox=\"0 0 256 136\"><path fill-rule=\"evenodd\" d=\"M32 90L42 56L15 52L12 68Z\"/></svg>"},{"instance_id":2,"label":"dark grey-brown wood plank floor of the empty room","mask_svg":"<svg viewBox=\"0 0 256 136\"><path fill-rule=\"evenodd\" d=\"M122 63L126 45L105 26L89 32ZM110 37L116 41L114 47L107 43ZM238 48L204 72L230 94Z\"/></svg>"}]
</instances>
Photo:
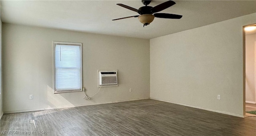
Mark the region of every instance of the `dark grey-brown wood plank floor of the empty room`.
<instances>
[{"instance_id":1,"label":"dark grey-brown wood plank floor of the empty room","mask_svg":"<svg viewBox=\"0 0 256 136\"><path fill-rule=\"evenodd\" d=\"M30 135L38 136L42 134L35 134L37 131L48 133L43 136L256 136L256 117L240 118L146 99L4 114L4 130L33 131Z\"/></svg>"}]
</instances>

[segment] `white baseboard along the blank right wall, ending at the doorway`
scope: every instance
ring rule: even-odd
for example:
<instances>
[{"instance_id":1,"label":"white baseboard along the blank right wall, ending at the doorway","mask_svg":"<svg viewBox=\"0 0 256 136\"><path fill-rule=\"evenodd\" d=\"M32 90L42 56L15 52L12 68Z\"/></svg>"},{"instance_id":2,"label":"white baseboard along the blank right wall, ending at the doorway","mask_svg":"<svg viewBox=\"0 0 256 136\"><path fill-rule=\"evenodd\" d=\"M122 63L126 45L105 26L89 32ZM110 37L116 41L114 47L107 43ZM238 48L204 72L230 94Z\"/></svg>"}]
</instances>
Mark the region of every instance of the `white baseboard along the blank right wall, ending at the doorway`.
<instances>
[{"instance_id":1,"label":"white baseboard along the blank right wall, ending at the doorway","mask_svg":"<svg viewBox=\"0 0 256 136\"><path fill-rule=\"evenodd\" d=\"M158 101L164 101L164 102L167 102L167 103L174 103L174 104L188 106L188 107L192 107L192 108L196 108L196 109L203 109L203 110L206 110L206 111L213 111L213 112L216 112L216 113L222 113L222 114L226 114L226 115L232 115L232 116L244 118L244 115L229 113L229 112L226 112L226 111L218 111L218 110L214 110L214 109L209 109L209 108L204 108L204 107L199 107L199 106L194 106L194 105L188 105L188 104L184 104L184 103L177 103L177 102L174 102L174 101L168 101L168 100L163 100L163 99L158 99L158 98L153 98L153 97L150 97L150 99L154 99L154 100L158 100Z\"/></svg>"}]
</instances>

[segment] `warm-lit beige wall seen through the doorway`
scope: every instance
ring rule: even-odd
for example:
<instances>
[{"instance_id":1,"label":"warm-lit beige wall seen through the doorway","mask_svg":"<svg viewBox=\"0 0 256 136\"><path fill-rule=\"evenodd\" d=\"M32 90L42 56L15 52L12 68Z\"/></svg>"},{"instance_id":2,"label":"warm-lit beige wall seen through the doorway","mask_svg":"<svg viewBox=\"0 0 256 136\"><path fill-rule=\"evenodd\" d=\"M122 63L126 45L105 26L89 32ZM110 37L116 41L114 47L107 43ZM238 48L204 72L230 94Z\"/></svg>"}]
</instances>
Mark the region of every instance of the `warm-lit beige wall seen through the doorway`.
<instances>
[{"instance_id":1,"label":"warm-lit beige wall seen through the doorway","mask_svg":"<svg viewBox=\"0 0 256 136\"><path fill-rule=\"evenodd\" d=\"M247 102L255 103L255 42L256 35L246 35L246 86L245 86L245 100Z\"/></svg>"}]
</instances>

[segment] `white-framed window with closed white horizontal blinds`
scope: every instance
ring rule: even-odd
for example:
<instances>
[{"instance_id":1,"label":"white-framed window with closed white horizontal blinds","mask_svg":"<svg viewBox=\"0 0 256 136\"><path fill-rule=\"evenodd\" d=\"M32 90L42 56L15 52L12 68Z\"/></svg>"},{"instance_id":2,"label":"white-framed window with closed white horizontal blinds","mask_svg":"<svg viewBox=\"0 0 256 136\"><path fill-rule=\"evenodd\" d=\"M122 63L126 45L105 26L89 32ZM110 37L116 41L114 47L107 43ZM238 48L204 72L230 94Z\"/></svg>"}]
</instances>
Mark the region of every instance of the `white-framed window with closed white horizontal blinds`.
<instances>
[{"instance_id":1,"label":"white-framed window with closed white horizontal blinds","mask_svg":"<svg viewBox=\"0 0 256 136\"><path fill-rule=\"evenodd\" d=\"M54 93L82 91L82 43L53 42Z\"/></svg>"}]
</instances>

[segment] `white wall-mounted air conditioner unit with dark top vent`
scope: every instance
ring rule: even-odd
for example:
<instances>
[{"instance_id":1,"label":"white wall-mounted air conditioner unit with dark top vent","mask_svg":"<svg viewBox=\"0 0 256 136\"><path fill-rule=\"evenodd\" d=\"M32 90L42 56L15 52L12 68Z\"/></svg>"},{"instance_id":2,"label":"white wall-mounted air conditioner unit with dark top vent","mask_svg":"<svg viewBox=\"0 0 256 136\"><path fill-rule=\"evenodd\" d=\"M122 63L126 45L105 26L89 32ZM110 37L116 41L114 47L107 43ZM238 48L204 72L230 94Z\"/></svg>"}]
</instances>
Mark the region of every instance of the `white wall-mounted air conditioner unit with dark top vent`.
<instances>
[{"instance_id":1,"label":"white wall-mounted air conditioner unit with dark top vent","mask_svg":"<svg viewBox=\"0 0 256 136\"><path fill-rule=\"evenodd\" d=\"M98 87L118 86L117 70L98 70Z\"/></svg>"}]
</instances>

